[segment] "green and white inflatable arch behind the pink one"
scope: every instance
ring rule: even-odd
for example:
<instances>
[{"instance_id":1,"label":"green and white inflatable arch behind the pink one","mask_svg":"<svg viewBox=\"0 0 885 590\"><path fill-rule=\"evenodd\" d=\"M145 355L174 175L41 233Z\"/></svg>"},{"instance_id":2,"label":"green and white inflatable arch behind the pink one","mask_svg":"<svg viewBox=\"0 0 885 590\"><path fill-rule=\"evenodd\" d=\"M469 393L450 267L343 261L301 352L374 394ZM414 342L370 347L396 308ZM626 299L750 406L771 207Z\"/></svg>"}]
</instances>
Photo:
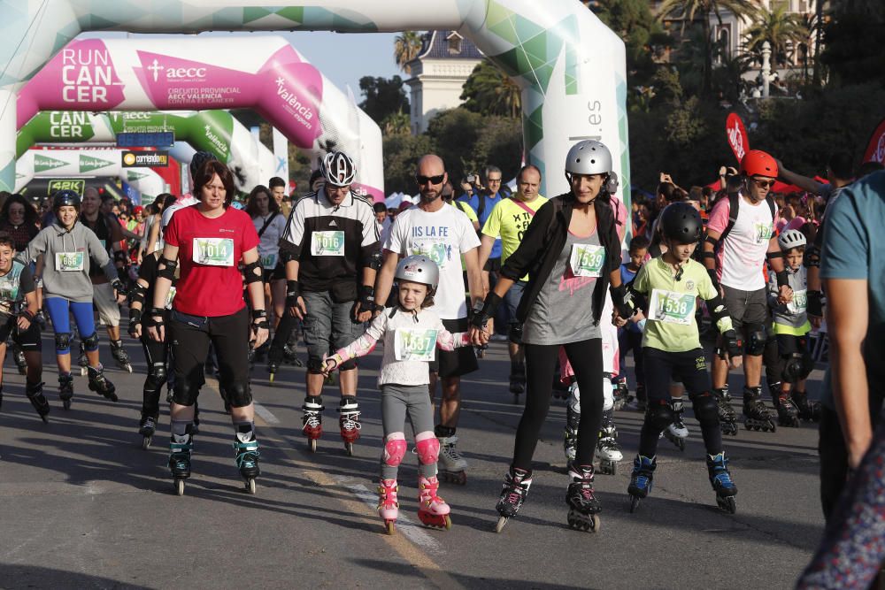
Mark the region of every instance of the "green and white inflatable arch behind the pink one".
<instances>
[{"instance_id":1,"label":"green and white inflatable arch behind the pink one","mask_svg":"<svg viewBox=\"0 0 885 590\"><path fill-rule=\"evenodd\" d=\"M42 111L19 129L15 151L21 157L36 143L114 143L120 132L154 131L172 131L176 141L214 154L234 172L237 188L243 192L267 184L276 170L273 152L227 111ZM220 141L212 142L210 137ZM190 160L179 161L188 164Z\"/></svg>"}]
</instances>

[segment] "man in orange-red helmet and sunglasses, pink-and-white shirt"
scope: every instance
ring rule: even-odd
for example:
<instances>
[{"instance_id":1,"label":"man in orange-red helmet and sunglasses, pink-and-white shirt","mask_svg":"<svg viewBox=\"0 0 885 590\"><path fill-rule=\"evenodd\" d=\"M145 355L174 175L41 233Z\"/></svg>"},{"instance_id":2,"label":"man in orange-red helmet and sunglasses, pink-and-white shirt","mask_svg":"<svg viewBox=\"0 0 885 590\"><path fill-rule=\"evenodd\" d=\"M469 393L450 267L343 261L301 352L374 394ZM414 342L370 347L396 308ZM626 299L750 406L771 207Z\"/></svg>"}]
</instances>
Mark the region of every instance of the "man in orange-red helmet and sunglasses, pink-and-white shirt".
<instances>
[{"instance_id":1,"label":"man in orange-red helmet and sunglasses, pink-and-white shirt","mask_svg":"<svg viewBox=\"0 0 885 590\"><path fill-rule=\"evenodd\" d=\"M713 206L704 241L704 265L713 285L720 288L735 330L743 329L743 415L746 427L774 432L776 414L762 401L762 353L766 326L771 324L766 300L766 257L777 275L779 301L788 303L793 292L778 246L774 226L777 206L770 195L778 175L777 161L752 149L741 161L740 191ZM721 344L720 344L721 345ZM728 395L728 365L713 357L713 388L719 398L725 433L736 434L735 414Z\"/></svg>"}]
</instances>

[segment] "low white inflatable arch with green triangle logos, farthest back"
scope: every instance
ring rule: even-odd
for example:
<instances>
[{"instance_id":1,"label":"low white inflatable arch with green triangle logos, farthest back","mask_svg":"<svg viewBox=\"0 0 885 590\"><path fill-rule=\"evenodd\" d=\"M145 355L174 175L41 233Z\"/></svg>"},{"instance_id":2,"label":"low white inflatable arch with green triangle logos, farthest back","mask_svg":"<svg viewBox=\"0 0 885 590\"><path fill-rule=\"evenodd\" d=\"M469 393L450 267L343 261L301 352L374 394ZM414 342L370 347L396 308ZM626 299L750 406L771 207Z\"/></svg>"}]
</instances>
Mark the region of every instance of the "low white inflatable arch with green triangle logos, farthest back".
<instances>
[{"instance_id":1,"label":"low white inflatable arch with green triangle logos, farthest back","mask_svg":"<svg viewBox=\"0 0 885 590\"><path fill-rule=\"evenodd\" d=\"M15 166L15 191L34 178L112 176L127 182L150 203L165 192L165 182L150 168L124 168L122 149L28 149Z\"/></svg>"}]
</instances>

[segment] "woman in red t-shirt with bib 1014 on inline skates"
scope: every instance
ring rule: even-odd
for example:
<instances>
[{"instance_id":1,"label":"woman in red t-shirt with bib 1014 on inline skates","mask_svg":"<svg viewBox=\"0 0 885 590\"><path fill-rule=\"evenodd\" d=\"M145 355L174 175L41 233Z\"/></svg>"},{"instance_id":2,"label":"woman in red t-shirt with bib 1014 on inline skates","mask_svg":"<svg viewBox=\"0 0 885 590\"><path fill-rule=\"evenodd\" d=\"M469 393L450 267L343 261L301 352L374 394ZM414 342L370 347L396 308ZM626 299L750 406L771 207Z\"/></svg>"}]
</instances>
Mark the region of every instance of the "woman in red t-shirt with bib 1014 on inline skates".
<instances>
[{"instance_id":1,"label":"woman in red t-shirt with bib 1014 on inline skates","mask_svg":"<svg viewBox=\"0 0 885 590\"><path fill-rule=\"evenodd\" d=\"M249 215L230 206L235 192L227 166L218 161L200 166L193 192L199 203L175 211L165 228L158 264L150 310L155 326L149 329L157 341L165 337L164 304L179 271L168 326L175 365L169 467L179 495L184 494L184 480L190 477L194 402L204 384L203 362L210 343L218 355L219 386L226 392L234 423L235 462L251 494L259 474L248 354L250 341L258 347L267 340L267 313L258 234ZM242 298L243 277L251 323Z\"/></svg>"}]
</instances>

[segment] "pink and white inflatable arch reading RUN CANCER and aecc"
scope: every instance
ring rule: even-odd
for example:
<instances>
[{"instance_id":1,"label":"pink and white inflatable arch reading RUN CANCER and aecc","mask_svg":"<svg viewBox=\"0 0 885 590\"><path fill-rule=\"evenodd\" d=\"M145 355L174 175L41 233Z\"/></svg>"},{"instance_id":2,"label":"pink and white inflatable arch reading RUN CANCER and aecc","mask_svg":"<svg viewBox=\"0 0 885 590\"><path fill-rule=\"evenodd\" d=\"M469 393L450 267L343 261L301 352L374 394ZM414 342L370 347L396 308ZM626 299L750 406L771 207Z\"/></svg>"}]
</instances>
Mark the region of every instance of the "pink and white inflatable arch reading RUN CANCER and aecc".
<instances>
[{"instance_id":1,"label":"pink and white inflatable arch reading RUN CANCER and aecc","mask_svg":"<svg viewBox=\"0 0 885 590\"><path fill-rule=\"evenodd\" d=\"M382 198L381 129L374 121L285 39L240 38L235 48L220 37L69 42L19 91L18 125L43 110L254 108L300 149L346 151L357 164L355 188ZM233 118L225 119L203 129L227 161L233 143L253 142L232 137Z\"/></svg>"}]
</instances>

